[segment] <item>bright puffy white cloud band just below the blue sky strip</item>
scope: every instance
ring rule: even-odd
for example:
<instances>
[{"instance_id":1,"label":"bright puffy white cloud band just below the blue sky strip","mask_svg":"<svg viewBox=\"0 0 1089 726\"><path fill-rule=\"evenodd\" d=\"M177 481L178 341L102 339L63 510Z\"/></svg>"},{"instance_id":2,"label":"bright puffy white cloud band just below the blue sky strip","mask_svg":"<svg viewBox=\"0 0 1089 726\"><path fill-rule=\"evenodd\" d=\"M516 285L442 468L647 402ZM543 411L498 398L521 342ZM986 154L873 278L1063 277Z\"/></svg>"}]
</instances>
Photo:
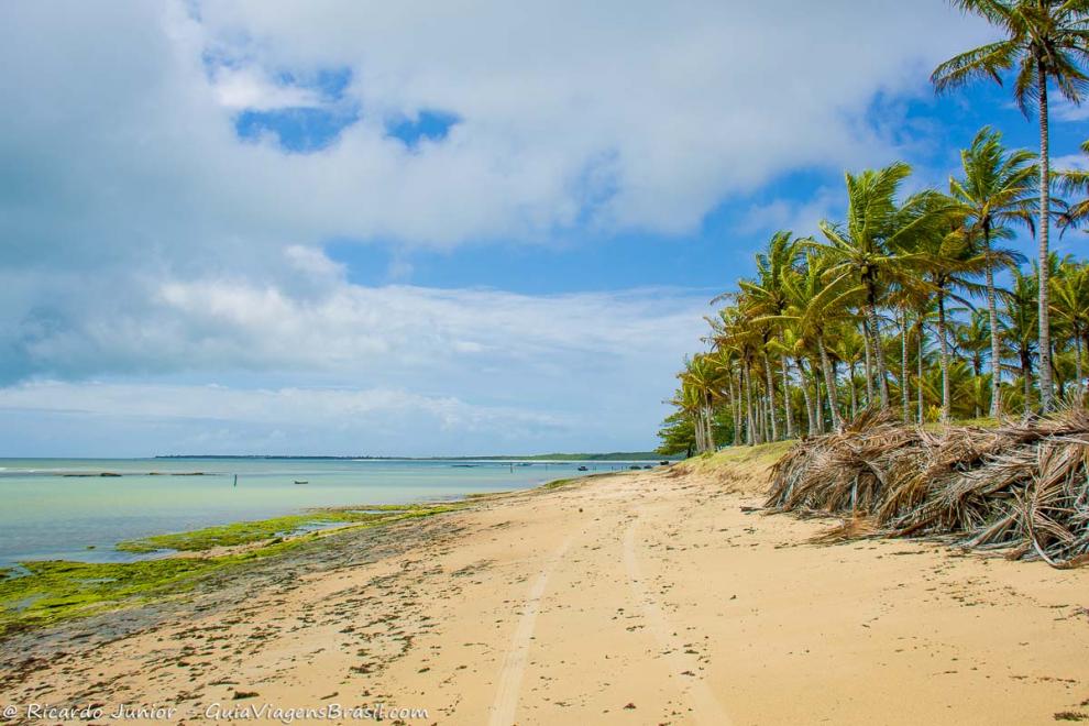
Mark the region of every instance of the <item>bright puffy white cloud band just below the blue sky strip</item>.
<instances>
[{"instance_id":1,"label":"bright puffy white cloud band just below the blue sky strip","mask_svg":"<svg viewBox=\"0 0 1089 726\"><path fill-rule=\"evenodd\" d=\"M109 324L57 305L52 317L61 322L28 331L20 354L32 370L68 376L111 373L117 360L164 373L292 370L391 380L465 366L462 374L472 375L481 353L493 366L517 365L517 376L548 376L563 365L606 374L659 351L660 363L674 365L696 344L706 309L703 295L670 290L526 296L363 287L336 277L321 287L296 296L244 279L164 282L138 304L112 309Z\"/></svg>"}]
</instances>

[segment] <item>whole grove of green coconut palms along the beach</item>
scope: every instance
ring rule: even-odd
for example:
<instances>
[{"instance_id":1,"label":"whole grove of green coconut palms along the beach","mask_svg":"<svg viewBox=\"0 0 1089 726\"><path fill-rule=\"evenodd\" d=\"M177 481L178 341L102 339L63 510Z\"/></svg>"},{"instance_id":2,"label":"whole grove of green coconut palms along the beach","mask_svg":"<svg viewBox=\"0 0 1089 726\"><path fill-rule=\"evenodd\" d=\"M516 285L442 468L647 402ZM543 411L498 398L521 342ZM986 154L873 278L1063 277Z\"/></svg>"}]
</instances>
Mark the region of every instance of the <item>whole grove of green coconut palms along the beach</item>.
<instances>
[{"instance_id":1,"label":"whole grove of green coconut palms along the beach","mask_svg":"<svg viewBox=\"0 0 1089 726\"><path fill-rule=\"evenodd\" d=\"M1085 234L1089 172L1050 168L1048 97L1080 105L1089 89L1089 1L952 4L999 40L939 65L935 91L1002 85L1038 148L980 129L945 188L916 190L898 161L848 170L844 219L773 234L756 276L715 299L661 453L837 431L866 410L947 425L1082 405L1089 263L1049 242ZM1019 234L1038 253L1012 249Z\"/></svg>"}]
</instances>

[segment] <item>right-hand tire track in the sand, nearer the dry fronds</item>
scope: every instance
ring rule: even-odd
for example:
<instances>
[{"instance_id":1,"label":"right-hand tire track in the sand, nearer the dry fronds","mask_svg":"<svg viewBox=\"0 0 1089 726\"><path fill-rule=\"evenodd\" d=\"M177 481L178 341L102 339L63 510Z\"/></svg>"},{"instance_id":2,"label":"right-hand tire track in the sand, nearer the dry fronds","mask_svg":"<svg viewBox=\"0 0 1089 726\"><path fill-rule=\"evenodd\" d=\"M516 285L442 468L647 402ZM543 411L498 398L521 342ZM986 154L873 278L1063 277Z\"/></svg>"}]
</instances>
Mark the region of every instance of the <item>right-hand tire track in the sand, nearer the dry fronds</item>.
<instances>
[{"instance_id":1,"label":"right-hand tire track in the sand, nearer the dry fronds","mask_svg":"<svg viewBox=\"0 0 1089 726\"><path fill-rule=\"evenodd\" d=\"M659 607L654 595L647 588L642 570L639 566L639 556L636 552L636 529L639 527L638 519L628 526L628 531L624 535L624 565L628 571L628 583L635 598L642 606L644 616L653 632L658 645L666 651L666 660L673 678L676 681L681 693L688 698L692 706L693 718L697 724L715 724L727 726L730 721L718 698L715 697L711 686L698 675L686 675L695 669L693 658L684 654L684 645L675 635L675 629L670 625L666 613Z\"/></svg>"}]
</instances>

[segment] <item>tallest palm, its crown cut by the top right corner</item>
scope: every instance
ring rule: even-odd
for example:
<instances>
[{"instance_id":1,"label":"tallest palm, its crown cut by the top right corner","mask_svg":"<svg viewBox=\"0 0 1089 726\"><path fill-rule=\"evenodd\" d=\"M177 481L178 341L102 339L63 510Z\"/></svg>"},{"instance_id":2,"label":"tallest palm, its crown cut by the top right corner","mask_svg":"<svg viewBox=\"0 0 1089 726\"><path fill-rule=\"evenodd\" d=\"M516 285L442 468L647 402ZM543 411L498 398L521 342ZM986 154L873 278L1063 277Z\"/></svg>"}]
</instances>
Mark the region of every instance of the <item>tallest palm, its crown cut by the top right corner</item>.
<instances>
[{"instance_id":1,"label":"tallest palm, its crown cut by the top right corner","mask_svg":"<svg viewBox=\"0 0 1089 726\"><path fill-rule=\"evenodd\" d=\"M1089 85L1081 65L1089 61L1089 3L1085 0L952 0L965 13L979 15L999 28L1003 40L946 61L931 75L938 91L958 88L980 78L999 84L1015 69L1013 96L1025 116L1031 106L1040 112L1040 260L1047 260L1050 217L1047 90L1080 103ZM1041 408L1052 408L1050 329L1048 327L1046 265L1041 264L1040 392Z\"/></svg>"}]
</instances>

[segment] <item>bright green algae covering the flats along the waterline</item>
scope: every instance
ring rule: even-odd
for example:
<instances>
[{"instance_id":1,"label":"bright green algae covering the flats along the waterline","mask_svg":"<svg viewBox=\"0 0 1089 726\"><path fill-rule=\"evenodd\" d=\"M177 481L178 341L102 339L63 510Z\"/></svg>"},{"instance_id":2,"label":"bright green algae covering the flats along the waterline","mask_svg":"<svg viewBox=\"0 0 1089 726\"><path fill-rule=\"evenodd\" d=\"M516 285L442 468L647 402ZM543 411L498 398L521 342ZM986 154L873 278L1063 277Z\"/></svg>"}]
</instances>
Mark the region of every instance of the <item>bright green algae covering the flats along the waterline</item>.
<instances>
[{"instance_id":1,"label":"bright green algae covering the flats along the waterline","mask_svg":"<svg viewBox=\"0 0 1089 726\"><path fill-rule=\"evenodd\" d=\"M261 521L162 535L119 546L128 552L169 548L188 552L254 544L215 557L167 557L136 562L23 562L25 572L0 570L0 636L14 629L131 607L184 595L204 579L336 536L343 528L298 534L309 525L376 527L452 512L464 505L375 506L321 510ZM295 534L295 536L290 536Z\"/></svg>"}]
</instances>

